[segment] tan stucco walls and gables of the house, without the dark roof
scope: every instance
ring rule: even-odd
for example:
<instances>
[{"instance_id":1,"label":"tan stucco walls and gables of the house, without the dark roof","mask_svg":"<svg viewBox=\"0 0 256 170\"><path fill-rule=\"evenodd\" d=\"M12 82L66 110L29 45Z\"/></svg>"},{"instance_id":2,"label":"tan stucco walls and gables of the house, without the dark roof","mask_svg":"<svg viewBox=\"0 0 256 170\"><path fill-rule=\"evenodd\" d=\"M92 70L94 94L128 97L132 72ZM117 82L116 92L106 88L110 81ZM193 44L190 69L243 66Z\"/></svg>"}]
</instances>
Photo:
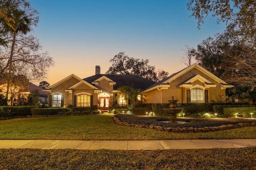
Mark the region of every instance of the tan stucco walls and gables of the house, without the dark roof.
<instances>
[{"instance_id":1,"label":"tan stucco walls and gables of the house, without the dark roof","mask_svg":"<svg viewBox=\"0 0 256 170\"><path fill-rule=\"evenodd\" d=\"M49 106L52 106L53 100L59 100L54 98L54 95L61 96L57 97L62 98L62 101L57 102L61 102L62 106L77 106L78 95L87 96L87 102L90 96L90 106L92 106L98 105L102 98L115 103L115 97L118 95L118 90L114 90L115 85L116 82L106 76L86 82L85 79L82 80L71 74L52 85L46 92L48 92ZM225 102L226 88L230 87L232 86L198 64L193 64L144 90L146 102L143 103L168 103L172 96L178 100L178 103ZM197 95L195 92L199 93L200 100L195 100Z\"/></svg>"}]
</instances>

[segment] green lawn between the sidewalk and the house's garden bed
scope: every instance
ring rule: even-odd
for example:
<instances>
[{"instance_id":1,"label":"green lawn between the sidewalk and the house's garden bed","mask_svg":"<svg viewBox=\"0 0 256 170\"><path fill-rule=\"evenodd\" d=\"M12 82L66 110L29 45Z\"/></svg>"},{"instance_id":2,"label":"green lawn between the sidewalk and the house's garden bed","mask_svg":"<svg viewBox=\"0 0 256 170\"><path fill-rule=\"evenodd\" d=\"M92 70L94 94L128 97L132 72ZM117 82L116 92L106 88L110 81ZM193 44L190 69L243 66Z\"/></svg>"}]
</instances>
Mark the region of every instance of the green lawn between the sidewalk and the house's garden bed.
<instances>
[{"instance_id":1,"label":"green lawn between the sidewalk and the house's garden bed","mask_svg":"<svg viewBox=\"0 0 256 170\"><path fill-rule=\"evenodd\" d=\"M119 126L112 120L112 115L34 117L0 121L0 139L256 139L256 127L243 127L209 133L170 133Z\"/></svg>"}]
</instances>

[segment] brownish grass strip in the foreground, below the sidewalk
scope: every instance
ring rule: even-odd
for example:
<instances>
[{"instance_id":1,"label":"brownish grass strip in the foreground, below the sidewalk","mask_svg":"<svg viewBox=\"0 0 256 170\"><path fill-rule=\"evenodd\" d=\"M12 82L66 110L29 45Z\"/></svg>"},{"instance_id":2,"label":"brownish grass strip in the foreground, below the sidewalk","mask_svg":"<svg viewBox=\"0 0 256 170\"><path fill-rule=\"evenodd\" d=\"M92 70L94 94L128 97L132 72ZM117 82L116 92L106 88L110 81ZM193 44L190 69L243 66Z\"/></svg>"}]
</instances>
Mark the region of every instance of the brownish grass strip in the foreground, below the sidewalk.
<instances>
[{"instance_id":1,"label":"brownish grass strip in the foreground, below the sidewalk","mask_svg":"<svg viewBox=\"0 0 256 170\"><path fill-rule=\"evenodd\" d=\"M251 170L256 148L208 150L0 149L0 169Z\"/></svg>"}]
</instances>

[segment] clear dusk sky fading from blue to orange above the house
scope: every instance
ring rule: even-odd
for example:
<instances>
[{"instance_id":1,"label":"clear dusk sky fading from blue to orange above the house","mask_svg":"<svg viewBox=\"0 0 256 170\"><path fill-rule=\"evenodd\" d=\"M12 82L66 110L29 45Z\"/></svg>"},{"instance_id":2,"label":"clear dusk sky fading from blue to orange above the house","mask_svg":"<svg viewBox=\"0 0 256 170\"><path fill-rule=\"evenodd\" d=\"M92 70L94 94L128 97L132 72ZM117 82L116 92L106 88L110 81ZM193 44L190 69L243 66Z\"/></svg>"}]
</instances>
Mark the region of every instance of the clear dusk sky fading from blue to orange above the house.
<instances>
[{"instance_id":1,"label":"clear dusk sky fading from blue to orange above the house","mask_svg":"<svg viewBox=\"0 0 256 170\"><path fill-rule=\"evenodd\" d=\"M197 20L189 17L188 0L28 1L40 16L32 35L55 62L44 79L50 85L70 74L92 76L96 65L104 74L119 52L149 59L170 75L186 67L185 45L196 48L226 28L208 17L198 29Z\"/></svg>"}]
</instances>

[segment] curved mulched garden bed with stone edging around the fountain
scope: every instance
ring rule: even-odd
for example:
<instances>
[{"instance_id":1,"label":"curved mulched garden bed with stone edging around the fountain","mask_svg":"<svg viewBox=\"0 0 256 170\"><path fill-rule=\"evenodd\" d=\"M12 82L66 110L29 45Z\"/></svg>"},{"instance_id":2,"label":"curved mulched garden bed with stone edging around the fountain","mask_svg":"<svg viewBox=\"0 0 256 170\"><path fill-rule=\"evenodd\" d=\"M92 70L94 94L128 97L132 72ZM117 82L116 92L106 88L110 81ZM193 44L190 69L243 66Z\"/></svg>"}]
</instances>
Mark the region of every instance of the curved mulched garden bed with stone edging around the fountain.
<instances>
[{"instance_id":1,"label":"curved mulched garden bed with stone edging around the fountain","mask_svg":"<svg viewBox=\"0 0 256 170\"><path fill-rule=\"evenodd\" d=\"M245 126L256 126L256 119L252 118L177 118L177 121L189 123L164 123L168 117L150 117L118 114L113 116L116 124L129 127L155 129L169 132L212 132L234 129Z\"/></svg>"}]
</instances>

